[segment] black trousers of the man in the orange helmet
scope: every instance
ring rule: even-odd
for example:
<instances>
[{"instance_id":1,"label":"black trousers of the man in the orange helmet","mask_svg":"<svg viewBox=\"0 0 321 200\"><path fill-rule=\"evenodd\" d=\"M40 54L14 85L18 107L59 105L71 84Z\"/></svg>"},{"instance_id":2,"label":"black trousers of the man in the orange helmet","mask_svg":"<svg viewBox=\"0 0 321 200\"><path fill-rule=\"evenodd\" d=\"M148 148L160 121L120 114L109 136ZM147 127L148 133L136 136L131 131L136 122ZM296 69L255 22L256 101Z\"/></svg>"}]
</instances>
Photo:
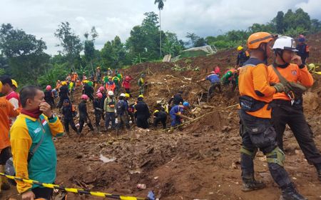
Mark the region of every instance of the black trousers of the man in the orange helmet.
<instances>
[{"instance_id":1,"label":"black trousers of the man in the orange helmet","mask_svg":"<svg viewBox=\"0 0 321 200\"><path fill-rule=\"evenodd\" d=\"M277 147L275 140L276 133L270 124L270 119L263 119L252 116L243 109L240 109L240 136L242 136L243 148L248 151L255 152L257 149L268 154ZM240 161L242 169L242 178L248 179L254 174L253 157L248 154L241 153ZM270 174L274 181L280 187L291 184L291 180L287 171L279 164L267 162Z\"/></svg>"}]
</instances>

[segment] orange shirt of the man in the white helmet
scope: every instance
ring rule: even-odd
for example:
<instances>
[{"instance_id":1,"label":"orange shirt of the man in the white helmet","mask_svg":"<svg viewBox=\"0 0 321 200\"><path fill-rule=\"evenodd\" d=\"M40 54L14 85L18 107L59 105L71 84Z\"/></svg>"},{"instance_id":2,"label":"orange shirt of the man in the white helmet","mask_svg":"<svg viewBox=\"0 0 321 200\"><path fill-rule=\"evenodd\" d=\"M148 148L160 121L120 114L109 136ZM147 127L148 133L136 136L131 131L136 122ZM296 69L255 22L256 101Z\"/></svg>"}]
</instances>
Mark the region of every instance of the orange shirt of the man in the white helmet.
<instances>
[{"instance_id":1,"label":"orange shirt of the man in the white helmet","mask_svg":"<svg viewBox=\"0 0 321 200\"><path fill-rule=\"evenodd\" d=\"M272 67L272 65L267 67L269 80L270 83L277 84L280 82L280 79L277 77L277 74L275 74L275 71L272 69ZM277 67L277 71L279 71L280 74L287 79L287 81L295 83L300 82L300 84L307 87L313 85L313 77L307 70L307 67L300 69L297 64L290 64L285 68ZM287 101L291 100L290 97L284 92L274 94L273 99L282 99Z\"/></svg>"}]
</instances>

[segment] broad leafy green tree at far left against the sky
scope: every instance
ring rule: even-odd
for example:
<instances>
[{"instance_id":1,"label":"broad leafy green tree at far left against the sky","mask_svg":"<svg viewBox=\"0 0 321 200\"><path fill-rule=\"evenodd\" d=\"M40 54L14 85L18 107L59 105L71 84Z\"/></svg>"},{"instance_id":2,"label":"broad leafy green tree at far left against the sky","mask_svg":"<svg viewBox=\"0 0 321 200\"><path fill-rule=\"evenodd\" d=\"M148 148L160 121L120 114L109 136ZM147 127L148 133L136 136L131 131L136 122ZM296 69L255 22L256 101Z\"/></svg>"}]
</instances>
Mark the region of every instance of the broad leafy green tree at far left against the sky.
<instances>
[{"instance_id":1,"label":"broad leafy green tree at far left against the sky","mask_svg":"<svg viewBox=\"0 0 321 200\"><path fill-rule=\"evenodd\" d=\"M8 72L23 84L37 84L39 76L49 68L50 56L44 53L46 44L36 36L2 24L0 50L8 59Z\"/></svg>"}]
</instances>

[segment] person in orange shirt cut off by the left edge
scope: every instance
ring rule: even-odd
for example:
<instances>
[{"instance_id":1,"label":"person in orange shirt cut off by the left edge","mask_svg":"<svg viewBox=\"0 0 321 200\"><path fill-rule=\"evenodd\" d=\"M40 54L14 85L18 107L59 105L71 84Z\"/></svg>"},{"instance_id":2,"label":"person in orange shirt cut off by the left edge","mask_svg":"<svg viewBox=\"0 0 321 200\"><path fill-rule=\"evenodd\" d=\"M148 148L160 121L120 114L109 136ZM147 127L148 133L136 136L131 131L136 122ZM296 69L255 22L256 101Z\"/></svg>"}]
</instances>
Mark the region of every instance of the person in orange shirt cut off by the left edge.
<instances>
[{"instance_id":1,"label":"person in orange shirt cut off by the left edge","mask_svg":"<svg viewBox=\"0 0 321 200\"><path fill-rule=\"evenodd\" d=\"M0 93L2 90L2 82L0 81ZM0 172L4 173L4 166L6 165L6 161L11 157L10 150L10 139L9 139L9 129L10 124L8 121L8 117L16 117L19 112L14 108L6 97L0 97ZM0 196L1 190L10 189L10 184L8 179L4 176L0 178Z\"/></svg>"}]
</instances>

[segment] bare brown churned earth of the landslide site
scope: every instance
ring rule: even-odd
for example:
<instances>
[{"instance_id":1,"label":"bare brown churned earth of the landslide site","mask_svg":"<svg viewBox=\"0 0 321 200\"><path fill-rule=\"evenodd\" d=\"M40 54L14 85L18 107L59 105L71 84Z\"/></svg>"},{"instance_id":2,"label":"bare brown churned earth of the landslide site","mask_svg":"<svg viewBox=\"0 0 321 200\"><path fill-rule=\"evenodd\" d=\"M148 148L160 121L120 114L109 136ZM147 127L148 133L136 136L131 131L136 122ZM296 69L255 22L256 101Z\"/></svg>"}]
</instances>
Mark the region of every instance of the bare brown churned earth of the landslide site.
<instances>
[{"instance_id":1,"label":"bare brown churned earth of the landslide site","mask_svg":"<svg viewBox=\"0 0 321 200\"><path fill-rule=\"evenodd\" d=\"M320 64L321 34L308 38L310 60ZM121 71L135 78L133 99L138 96L136 81L146 73L146 102L153 111L156 101L168 101L182 90L183 99L190 101L190 117L198 118L185 124L183 131L138 129L122 131L120 135L105 131L93 134L86 127L85 136L63 136L56 141L58 169L56 184L103 191L111 194L146 197L153 190L159 199L279 199L280 190L273 183L265 156L255 158L255 176L267 187L244 193L240 190L240 144L238 91L229 87L206 103L208 83L197 84L213 67L223 73L235 64L235 51L221 51L213 56L183 59L176 63L144 63ZM175 69L175 70L173 70ZM180 71L183 70L183 71ZM321 149L321 76L314 74L315 84L305 94L305 116ZM80 89L74 104L80 99ZM94 121L92 105L91 121ZM58 111L56 111L58 112ZM77 121L77 120L76 120ZM103 121L101 121L103 124ZM168 123L169 126L169 123ZM297 189L308 199L321 199L321 182L314 166L305 157L287 127L285 131L285 169ZM146 184L138 189L137 184ZM19 199L16 189L6 191L4 199ZM68 199L102 199L68 194Z\"/></svg>"}]
</instances>

